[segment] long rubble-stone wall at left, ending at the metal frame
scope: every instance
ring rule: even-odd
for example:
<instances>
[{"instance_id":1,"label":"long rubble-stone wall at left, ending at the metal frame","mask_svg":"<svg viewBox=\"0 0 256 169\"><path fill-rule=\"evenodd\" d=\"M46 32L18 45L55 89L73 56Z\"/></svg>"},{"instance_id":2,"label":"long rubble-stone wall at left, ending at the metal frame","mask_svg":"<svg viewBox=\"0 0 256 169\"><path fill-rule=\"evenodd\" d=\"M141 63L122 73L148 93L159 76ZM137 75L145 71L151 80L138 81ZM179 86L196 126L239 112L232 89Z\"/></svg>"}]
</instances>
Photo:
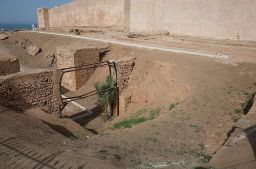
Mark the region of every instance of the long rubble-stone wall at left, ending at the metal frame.
<instances>
[{"instance_id":1,"label":"long rubble-stone wall at left, ending at the metal frame","mask_svg":"<svg viewBox=\"0 0 256 169\"><path fill-rule=\"evenodd\" d=\"M33 69L0 77L0 105L58 113L60 71Z\"/></svg>"}]
</instances>

